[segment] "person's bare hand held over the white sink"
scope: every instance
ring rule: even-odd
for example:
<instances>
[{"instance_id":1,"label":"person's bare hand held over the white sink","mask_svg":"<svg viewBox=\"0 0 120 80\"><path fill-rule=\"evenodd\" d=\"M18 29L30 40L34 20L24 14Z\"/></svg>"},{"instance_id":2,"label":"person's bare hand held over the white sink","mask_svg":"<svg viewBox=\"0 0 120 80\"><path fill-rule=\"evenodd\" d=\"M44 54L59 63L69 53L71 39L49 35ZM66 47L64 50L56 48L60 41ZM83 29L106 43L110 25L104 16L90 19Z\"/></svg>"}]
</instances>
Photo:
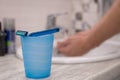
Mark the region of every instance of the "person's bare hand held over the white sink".
<instances>
[{"instance_id":1,"label":"person's bare hand held over the white sink","mask_svg":"<svg viewBox=\"0 0 120 80\"><path fill-rule=\"evenodd\" d=\"M63 42L58 42L58 51L66 56L81 56L87 53L93 48L89 43L89 33L90 31L79 32Z\"/></svg>"}]
</instances>

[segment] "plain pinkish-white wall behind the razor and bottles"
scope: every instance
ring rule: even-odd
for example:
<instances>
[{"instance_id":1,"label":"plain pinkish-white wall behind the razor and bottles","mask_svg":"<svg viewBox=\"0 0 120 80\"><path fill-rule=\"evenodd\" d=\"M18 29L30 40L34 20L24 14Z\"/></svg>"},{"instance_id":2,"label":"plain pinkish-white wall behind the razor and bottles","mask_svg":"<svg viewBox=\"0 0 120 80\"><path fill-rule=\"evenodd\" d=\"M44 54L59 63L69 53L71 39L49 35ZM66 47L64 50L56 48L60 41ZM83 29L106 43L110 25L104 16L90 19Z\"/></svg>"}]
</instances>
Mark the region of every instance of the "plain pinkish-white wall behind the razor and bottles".
<instances>
[{"instance_id":1,"label":"plain pinkish-white wall behind the razor and bottles","mask_svg":"<svg viewBox=\"0 0 120 80\"><path fill-rule=\"evenodd\" d=\"M30 31L44 29L47 15L68 12L69 2L69 0L0 0L0 18L15 18L17 29Z\"/></svg>"}]
</instances>

